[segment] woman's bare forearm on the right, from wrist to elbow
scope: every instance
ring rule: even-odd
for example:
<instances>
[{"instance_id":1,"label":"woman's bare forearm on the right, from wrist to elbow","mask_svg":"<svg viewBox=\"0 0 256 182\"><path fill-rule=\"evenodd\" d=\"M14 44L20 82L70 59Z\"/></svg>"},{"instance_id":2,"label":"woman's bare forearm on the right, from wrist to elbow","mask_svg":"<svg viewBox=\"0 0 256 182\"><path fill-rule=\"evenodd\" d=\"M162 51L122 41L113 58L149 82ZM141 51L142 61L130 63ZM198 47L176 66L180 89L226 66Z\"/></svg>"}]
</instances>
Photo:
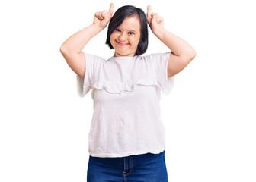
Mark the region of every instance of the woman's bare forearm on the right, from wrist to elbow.
<instances>
[{"instance_id":1,"label":"woman's bare forearm on the right, from wrist to elbow","mask_svg":"<svg viewBox=\"0 0 256 182\"><path fill-rule=\"evenodd\" d=\"M162 32L155 33L158 37L174 55L177 56L189 56L193 57L196 55L195 50L186 42L173 33L168 32L168 30L162 30Z\"/></svg>"}]
</instances>

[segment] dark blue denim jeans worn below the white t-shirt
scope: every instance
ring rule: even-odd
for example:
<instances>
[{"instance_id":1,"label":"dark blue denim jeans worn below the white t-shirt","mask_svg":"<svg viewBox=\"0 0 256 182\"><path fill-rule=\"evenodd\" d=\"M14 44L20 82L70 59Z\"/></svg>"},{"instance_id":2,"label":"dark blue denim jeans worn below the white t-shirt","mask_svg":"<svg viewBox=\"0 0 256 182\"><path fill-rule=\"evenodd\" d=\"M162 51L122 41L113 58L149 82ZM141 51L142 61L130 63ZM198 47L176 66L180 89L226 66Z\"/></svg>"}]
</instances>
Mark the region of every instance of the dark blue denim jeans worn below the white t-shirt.
<instances>
[{"instance_id":1,"label":"dark blue denim jeans worn below the white t-shirt","mask_svg":"<svg viewBox=\"0 0 256 182\"><path fill-rule=\"evenodd\" d=\"M120 158L89 157L87 182L166 182L165 151Z\"/></svg>"}]
</instances>

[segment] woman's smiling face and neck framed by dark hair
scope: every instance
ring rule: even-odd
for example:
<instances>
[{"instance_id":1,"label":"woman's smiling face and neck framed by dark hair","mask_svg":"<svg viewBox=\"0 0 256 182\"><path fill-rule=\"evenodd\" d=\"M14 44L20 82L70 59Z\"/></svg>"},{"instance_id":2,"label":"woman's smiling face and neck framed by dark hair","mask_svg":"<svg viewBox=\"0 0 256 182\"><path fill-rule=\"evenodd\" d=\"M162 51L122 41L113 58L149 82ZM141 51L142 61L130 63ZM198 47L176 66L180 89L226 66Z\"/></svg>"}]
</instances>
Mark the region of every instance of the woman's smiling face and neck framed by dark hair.
<instances>
[{"instance_id":1,"label":"woman's smiling face and neck framed by dark hair","mask_svg":"<svg viewBox=\"0 0 256 182\"><path fill-rule=\"evenodd\" d=\"M110 43L115 49L114 56L134 56L139 39L140 24L138 17L126 17L123 23L110 35Z\"/></svg>"}]
</instances>

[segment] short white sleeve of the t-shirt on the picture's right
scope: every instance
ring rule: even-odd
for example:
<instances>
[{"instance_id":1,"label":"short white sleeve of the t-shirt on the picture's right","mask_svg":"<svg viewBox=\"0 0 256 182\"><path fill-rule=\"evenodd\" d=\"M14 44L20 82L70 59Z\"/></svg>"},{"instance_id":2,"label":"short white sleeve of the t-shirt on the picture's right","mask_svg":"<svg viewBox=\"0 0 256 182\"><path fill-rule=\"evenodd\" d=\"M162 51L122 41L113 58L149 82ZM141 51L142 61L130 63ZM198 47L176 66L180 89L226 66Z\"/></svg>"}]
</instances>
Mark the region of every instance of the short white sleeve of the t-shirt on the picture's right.
<instances>
[{"instance_id":1,"label":"short white sleeve of the t-shirt on the picture's right","mask_svg":"<svg viewBox=\"0 0 256 182\"><path fill-rule=\"evenodd\" d=\"M171 93L174 87L175 76L168 78L168 59L171 52L162 54L152 54L149 58L158 71L158 83L162 87L162 92L165 96Z\"/></svg>"}]
</instances>

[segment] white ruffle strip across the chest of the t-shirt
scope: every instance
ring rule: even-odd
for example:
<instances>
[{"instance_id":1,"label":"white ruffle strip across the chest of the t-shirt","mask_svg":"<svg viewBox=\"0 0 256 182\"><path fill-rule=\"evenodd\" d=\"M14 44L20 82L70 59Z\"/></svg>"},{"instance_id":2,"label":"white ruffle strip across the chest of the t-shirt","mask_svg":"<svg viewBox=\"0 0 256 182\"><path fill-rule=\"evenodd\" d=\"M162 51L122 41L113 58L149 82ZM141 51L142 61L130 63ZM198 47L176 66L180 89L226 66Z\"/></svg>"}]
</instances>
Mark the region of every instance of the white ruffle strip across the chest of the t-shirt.
<instances>
[{"instance_id":1,"label":"white ruffle strip across the chest of the t-shirt","mask_svg":"<svg viewBox=\"0 0 256 182\"><path fill-rule=\"evenodd\" d=\"M157 86L161 88L157 80L127 80L126 82L117 82L117 81L100 81L95 83L92 87L94 89L104 89L108 93L123 93L123 92L133 92L133 89L136 86Z\"/></svg>"}]
</instances>

